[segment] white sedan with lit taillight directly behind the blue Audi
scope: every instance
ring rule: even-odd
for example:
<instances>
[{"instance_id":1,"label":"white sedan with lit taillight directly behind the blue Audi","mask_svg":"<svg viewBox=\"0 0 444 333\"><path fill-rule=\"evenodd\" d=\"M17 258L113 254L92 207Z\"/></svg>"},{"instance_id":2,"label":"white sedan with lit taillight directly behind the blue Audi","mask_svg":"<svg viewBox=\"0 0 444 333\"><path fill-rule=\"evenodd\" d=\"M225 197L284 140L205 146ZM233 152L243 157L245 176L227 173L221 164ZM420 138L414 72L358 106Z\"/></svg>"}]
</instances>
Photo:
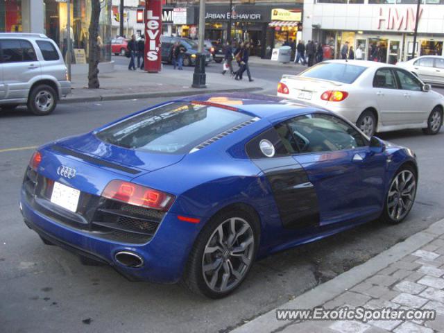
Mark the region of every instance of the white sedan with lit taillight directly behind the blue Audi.
<instances>
[{"instance_id":1,"label":"white sedan with lit taillight directly behind the blue Audi","mask_svg":"<svg viewBox=\"0 0 444 333\"><path fill-rule=\"evenodd\" d=\"M329 60L284 75L278 96L321 106L356 123L366 135L443 125L444 96L409 71L381 62Z\"/></svg>"}]
</instances>

